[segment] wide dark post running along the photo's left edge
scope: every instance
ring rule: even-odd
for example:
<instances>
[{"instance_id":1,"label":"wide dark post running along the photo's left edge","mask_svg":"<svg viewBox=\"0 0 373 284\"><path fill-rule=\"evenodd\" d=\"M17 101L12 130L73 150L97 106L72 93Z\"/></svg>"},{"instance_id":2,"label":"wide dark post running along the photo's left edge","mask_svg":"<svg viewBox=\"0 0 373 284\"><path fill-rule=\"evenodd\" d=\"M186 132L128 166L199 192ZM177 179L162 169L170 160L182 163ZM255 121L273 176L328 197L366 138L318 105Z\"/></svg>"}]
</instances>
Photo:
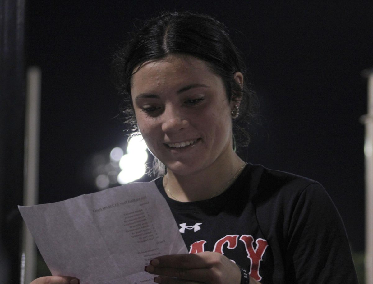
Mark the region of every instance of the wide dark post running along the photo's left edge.
<instances>
[{"instance_id":1,"label":"wide dark post running along the photo's left edge","mask_svg":"<svg viewBox=\"0 0 373 284\"><path fill-rule=\"evenodd\" d=\"M0 0L0 283L18 283L25 129L25 0Z\"/></svg>"}]
</instances>

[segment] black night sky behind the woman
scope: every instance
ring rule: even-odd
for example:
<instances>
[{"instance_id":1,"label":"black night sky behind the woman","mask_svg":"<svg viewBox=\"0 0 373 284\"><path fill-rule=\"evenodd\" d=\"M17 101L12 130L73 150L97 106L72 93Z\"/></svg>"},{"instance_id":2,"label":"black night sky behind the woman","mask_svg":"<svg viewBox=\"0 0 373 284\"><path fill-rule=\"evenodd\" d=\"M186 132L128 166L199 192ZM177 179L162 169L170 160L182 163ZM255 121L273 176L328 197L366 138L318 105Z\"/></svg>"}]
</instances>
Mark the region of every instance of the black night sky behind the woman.
<instances>
[{"instance_id":1,"label":"black night sky behind the woman","mask_svg":"<svg viewBox=\"0 0 373 284\"><path fill-rule=\"evenodd\" d=\"M325 2L28 1L27 63L43 72L40 203L95 191L87 160L127 139L113 52L144 19L190 10L223 22L245 54L263 119L244 159L321 182L362 250L373 2Z\"/></svg>"}]
</instances>

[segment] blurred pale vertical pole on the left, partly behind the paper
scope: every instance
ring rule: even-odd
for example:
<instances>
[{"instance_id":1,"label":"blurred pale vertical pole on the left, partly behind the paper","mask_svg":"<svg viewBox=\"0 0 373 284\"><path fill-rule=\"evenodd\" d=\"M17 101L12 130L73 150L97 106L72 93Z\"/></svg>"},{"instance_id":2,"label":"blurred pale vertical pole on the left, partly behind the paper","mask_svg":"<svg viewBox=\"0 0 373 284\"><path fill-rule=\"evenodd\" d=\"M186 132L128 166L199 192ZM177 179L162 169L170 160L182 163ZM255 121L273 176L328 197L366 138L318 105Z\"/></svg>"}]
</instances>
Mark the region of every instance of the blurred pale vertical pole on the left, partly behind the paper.
<instances>
[{"instance_id":1,"label":"blurred pale vertical pole on the left, partly behind the paper","mask_svg":"<svg viewBox=\"0 0 373 284\"><path fill-rule=\"evenodd\" d=\"M41 71L31 67L27 71L25 113L25 163L23 205L38 203L39 188L39 136ZM34 240L23 223L21 284L28 284L36 277L37 250Z\"/></svg>"}]
</instances>

